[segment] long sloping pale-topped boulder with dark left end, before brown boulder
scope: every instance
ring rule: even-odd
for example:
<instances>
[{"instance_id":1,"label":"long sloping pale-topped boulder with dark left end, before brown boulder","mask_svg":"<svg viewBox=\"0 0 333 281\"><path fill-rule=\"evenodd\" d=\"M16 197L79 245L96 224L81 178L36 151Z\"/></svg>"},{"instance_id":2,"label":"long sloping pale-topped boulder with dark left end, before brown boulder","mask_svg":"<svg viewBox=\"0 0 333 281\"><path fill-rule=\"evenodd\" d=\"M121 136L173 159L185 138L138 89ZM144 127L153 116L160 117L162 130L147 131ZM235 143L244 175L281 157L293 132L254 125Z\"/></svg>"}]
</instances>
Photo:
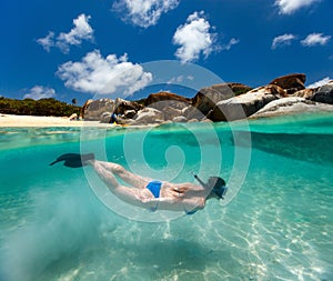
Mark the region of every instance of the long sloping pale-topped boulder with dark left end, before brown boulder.
<instances>
[{"instance_id":1,"label":"long sloping pale-topped boulder with dark left end, before brown boulder","mask_svg":"<svg viewBox=\"0 0 333 281\"><path fill-rule=\"evenodd\" d=\"M233 121L252 116L269 102L284 97L285 92L279 86L256 88L244 94L220 101L208 114L213 121Z\"/></svg>"}]
</instances>

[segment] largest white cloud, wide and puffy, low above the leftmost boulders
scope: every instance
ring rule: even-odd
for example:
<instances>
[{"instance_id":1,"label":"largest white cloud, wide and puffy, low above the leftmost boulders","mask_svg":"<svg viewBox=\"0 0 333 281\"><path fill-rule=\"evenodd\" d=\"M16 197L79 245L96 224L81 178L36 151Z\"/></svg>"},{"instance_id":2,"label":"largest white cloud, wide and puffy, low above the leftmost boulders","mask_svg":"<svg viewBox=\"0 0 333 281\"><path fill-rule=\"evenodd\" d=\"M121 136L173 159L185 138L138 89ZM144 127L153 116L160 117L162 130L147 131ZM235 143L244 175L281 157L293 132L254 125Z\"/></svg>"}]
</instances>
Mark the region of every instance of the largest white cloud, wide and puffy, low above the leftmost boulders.
<instances>
[{"instance_id":1,"label":"largest white cloud, wide and puffy, low above the leftmost boulders","mask_svg":"<svg viewBox=\"0 0 333 281\"><path fill-rule=\"evenodd\" d=\"M120 93L129 96L144 88L152 81L152 74L142 67L128 61L124 54L117 58L109 54L105 59L99 50L89 52L80 62L65 62L57 74L64 84L81 92Z\"/></svg>"}]
</instances>

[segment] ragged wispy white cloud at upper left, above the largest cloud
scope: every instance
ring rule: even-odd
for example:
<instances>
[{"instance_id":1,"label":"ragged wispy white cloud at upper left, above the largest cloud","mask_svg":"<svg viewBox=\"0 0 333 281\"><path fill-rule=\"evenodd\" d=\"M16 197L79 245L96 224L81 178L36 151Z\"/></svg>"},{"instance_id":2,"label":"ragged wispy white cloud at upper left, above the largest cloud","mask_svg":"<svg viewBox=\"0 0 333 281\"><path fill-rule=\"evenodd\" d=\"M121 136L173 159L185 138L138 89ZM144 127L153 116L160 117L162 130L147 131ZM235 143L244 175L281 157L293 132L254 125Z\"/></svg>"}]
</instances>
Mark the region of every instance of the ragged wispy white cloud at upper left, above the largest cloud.
<instances>
[{"instance_id":1,"label":"ragged wispy white cloud at upper left, above the largest cloud","mask_svg":"<svg viewBox=\"0 0 333 281\"><path fill-rule=\"evenodd\" d=\"M90 19L90 16L82 13L73 20L74 27L70 32L61 32L57 39L54 39L54 32L50 31L46 38L40 38L37 42L47 51L50 51L51 47L56 46L62 52L68 53L70 46L80 46L83 40L93 40L93 29L89 24Z\"/></svg>"}]
</instances>

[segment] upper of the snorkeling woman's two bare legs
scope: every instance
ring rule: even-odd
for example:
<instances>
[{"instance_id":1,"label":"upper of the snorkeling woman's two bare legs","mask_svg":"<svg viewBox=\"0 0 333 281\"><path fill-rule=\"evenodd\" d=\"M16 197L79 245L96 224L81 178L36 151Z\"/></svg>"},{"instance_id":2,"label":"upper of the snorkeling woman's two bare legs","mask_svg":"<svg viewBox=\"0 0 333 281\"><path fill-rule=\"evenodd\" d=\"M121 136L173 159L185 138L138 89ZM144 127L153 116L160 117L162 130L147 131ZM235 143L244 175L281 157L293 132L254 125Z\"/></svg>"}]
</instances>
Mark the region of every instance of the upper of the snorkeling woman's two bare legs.
<instances>
[{"instance_id":1,"label":"upper of the snorkeling woman's two bare legs","mask_svg":"<svg viewBox=\"0 0 333 281\"><path fill-rule=\"evenodd\" d=\"M142 178L138 174L134 174L128 170L125 170L122 165L113 163L113 162L104 162L94 160L98 164L102 165L105 170L109 170L113 174L117 174L127 183L131 184L133 188L144 189L149 183L149 179Z\"/></svg>"}]
</instances>

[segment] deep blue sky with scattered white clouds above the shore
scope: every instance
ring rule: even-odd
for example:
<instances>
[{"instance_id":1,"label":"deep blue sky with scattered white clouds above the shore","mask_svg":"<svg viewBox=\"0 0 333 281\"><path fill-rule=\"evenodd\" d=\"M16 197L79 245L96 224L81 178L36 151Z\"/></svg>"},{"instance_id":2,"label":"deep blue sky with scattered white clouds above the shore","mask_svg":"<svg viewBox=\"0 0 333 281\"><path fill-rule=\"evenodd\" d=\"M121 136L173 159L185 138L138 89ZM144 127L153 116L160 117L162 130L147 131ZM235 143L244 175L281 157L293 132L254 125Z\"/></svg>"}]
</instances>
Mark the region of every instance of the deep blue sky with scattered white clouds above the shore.
<instances>
[{"instance_id":1,"label":"deep blue sky with scattered white clouds above the shore","mask_svg":"<svg viewBox=\"0 0 333 281\"><path fill-rule=\"evenodd\" d=\"M332 11L332 0L1 1L0 94L135 97L159 60L251 87L293 72L322 83L333 79Z\"/></svg>"}]
</instances>

